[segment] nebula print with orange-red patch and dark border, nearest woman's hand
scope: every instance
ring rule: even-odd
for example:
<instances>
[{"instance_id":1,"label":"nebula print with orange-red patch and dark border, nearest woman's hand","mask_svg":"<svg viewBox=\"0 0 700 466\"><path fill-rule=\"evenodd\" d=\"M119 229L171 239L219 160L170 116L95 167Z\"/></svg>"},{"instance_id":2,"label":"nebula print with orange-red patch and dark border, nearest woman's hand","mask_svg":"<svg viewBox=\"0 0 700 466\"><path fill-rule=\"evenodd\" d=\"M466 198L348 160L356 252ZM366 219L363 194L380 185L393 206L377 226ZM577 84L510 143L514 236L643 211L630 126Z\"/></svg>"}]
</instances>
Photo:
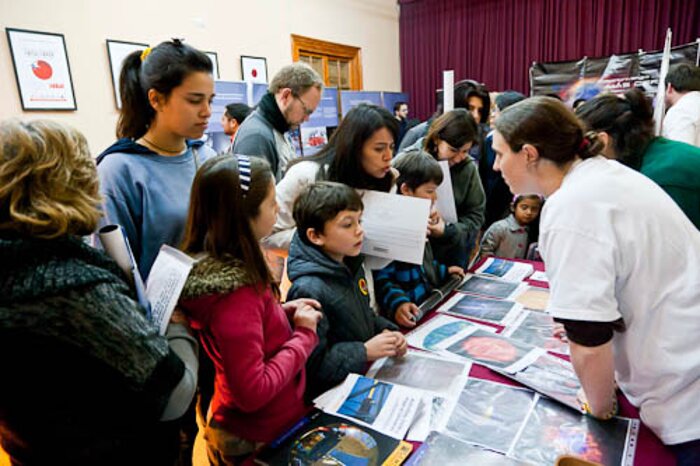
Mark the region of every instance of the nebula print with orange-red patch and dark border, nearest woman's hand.
<instances>
[{"instance_id":1,"label":"nebula print with orange-red patch and dark border, nearest woman's hand","mask_svg":"<svg viewBox=\"0 0 700 466\"><path fill-rule=\"evenodd\" d=\"M636 438L638 428L639 421L598 421L539 398L511 453L535 464L554 464L559 455L570 454L604 465L631 466L630 439Z\"/></svg>"}]
</instances>

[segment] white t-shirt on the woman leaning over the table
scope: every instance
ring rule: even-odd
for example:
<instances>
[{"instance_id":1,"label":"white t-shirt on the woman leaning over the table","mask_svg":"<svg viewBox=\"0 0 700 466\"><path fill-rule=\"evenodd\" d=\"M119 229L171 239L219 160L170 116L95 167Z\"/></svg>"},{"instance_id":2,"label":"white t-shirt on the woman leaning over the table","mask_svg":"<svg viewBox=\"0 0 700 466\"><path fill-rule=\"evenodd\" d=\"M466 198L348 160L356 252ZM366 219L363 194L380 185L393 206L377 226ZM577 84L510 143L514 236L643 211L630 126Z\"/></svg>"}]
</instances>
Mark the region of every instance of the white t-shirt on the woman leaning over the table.
<instances>
[{"instance_id":1,"label":"white t-shirt on the woman leaning over the table","mask_svg":"<svg viewBox=\"0 0 700 466\"><path fill-rule=\"evenodd\" d=\"M616 380L666 444L700 439L700 232L653 181L603 157L545 203L548 311L611 322Z\"/></svg>"}]
</instances>

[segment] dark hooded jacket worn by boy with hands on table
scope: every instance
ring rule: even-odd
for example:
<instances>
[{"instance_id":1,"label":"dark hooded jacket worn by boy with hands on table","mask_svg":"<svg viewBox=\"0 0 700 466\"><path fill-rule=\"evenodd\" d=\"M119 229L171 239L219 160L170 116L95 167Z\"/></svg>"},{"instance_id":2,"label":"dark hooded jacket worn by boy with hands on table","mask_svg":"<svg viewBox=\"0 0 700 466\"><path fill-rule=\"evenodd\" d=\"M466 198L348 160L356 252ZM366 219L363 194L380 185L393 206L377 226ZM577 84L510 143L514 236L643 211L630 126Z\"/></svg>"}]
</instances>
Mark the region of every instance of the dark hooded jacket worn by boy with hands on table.
<instances>
[{"instance_id":1,"label":"dark hooded jacket worn by boy with hands on table","mask_svg":"<svg viewBox=\"0 0 700 466\"><path fill-rule=\"evenodd\" d=\"M313 298L321 303L318 346L306 365L306 398L311 400L345 380L351 372L364 373L364 342L385 329L398 327L372 312L362 256L334 261L321 249L294 234L289 247L287 275L292 287L287 299Z\"/></svg>"}]
</instances>

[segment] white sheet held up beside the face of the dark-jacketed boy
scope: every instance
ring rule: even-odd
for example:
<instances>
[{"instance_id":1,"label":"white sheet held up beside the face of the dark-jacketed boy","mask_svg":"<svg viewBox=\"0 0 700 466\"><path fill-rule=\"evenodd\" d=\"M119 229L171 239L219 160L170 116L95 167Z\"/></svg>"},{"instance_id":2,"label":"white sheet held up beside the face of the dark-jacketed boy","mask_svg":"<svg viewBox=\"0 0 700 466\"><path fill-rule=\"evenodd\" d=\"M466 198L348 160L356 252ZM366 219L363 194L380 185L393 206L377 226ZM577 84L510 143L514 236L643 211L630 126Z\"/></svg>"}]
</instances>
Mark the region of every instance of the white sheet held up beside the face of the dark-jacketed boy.
<instances>
[{"instance_id":1,"label":"white sheet held up beside the face of the dark-jacketed boy","mask_svg":"<svg viewBox=\"0 0 700 466\"><path fill-rule=\"evenodd\" d=\"M423 263L430 201L379 191L365 191L362 252L368 256Z\"/></svg>"}]
</instances>

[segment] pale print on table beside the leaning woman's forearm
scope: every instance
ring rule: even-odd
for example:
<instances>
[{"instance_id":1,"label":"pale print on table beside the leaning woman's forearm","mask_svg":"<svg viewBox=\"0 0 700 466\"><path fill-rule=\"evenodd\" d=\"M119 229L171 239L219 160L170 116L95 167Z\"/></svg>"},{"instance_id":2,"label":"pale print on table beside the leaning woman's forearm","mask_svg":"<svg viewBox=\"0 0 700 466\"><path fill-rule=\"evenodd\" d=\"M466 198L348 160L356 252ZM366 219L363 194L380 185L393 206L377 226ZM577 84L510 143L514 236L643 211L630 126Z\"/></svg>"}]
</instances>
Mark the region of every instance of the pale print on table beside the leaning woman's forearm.
<instances>
[{"instance_id":1,"label":"pale print on table beside the leaning woman's forearm","mask_svg":"<svg viewBox=\"0 0 700 466\"><path fill-rule=\"evenodd\" d=\"M512 377L523 385L580 412L577 395L581 383L570 362L551 354L543 354Z\"/></svg>"}]
</instances>

